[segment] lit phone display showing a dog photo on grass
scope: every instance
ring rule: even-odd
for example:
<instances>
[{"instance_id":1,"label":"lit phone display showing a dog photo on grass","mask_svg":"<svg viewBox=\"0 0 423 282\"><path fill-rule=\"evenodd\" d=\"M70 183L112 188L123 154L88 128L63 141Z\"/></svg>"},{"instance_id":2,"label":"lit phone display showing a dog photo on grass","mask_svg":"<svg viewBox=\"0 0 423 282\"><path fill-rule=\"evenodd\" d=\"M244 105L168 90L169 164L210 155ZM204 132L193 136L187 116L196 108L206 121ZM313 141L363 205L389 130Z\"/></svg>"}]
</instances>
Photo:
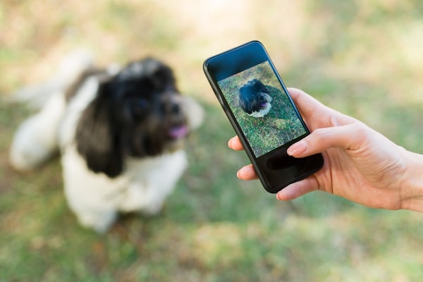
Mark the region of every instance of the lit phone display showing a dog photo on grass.
<instances>
[{"instance_id":1,"label":"lit phone display showing a dog photo on grass","mask_svg":"<svg viewBox=\"0 0 423 282\"><path fill-rule=\"evenodd\" d=\"M256 158L307 134L269 61L217 83Z\"/></svg>"}]
</instances>

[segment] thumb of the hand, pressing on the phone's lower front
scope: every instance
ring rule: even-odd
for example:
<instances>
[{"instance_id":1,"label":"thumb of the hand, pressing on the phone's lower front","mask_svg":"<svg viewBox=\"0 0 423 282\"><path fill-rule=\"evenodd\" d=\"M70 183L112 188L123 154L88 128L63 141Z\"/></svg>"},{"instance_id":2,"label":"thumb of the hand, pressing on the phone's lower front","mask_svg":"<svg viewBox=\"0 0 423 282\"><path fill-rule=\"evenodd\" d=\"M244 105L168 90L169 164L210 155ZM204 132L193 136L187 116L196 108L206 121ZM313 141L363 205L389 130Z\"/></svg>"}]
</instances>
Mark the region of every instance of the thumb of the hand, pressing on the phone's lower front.
<instances>
[{"instance_id":1,"label":"thumb of the hand, pressing on the phone's lower front","mask_svg":"<svg viewBox=\"0 0 423 282\"><path fill-rule=\"evenodd\" d=\"M332 147L354 150L362 145L367 128L362 123L353 123L331 128L319 128L307 137L291 145L287 153L302 158L324 152Z\"/></svg>"}]
</instances>

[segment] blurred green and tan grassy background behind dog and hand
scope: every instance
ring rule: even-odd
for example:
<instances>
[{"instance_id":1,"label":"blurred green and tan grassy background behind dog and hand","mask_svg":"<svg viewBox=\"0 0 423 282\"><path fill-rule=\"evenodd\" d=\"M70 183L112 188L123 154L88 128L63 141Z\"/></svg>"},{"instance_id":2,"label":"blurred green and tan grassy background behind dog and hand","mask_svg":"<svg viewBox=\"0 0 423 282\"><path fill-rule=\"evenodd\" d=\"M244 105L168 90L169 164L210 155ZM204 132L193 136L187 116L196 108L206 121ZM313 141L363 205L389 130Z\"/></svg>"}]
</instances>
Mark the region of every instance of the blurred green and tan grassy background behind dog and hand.
<instances>
[{"instance_id":1,"label":"blurred green and tan grassy background behind dog and hand","mask_svg":"<svg viewBox=\"0 0 423 282\"><path fill-rule=\"evenodd\" d=\"M0 281L419 281L422 214L323 192L278 202L235 177L247 157L227 148L234 133L202 62L258 39L287 86L423 153L422 19L419 0L1 1ZM105 235L69 211L59 161L8 165L32 114L8 94L78 48L101 66L156 56L207 112L164 212L123 217Z\"/></svg>"}]
</instances>

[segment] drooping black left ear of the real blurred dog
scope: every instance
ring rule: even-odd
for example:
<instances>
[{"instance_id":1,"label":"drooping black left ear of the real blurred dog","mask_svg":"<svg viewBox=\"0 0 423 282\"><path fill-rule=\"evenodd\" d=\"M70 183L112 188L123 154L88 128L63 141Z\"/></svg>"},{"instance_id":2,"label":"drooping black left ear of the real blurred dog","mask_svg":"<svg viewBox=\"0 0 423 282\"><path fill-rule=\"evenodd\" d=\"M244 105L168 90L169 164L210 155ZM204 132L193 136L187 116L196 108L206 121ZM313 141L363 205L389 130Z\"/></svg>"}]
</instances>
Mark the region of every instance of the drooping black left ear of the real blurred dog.
<instances>
[{"instance_id":1,"label":"drooping black left ear of the real blurred dog","mask_svg":"<svg viewBox=\"0 0 423 282\"><path fill-rule=\"evenodd\" d=\"M78 152L95 173L116 177L123 171L123 152L117 125L110 116L109 83L102 82L97 97L82 112L75 132Z\"/></svg>"}]
</instances>

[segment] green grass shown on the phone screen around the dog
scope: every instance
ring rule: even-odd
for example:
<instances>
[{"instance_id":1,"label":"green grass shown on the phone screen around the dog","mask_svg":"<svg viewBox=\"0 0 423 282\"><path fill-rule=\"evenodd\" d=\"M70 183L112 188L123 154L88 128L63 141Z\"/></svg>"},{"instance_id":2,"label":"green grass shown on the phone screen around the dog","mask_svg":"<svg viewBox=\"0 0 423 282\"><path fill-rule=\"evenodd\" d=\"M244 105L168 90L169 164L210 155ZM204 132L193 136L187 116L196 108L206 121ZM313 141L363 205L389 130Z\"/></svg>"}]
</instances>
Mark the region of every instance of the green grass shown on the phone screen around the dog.
<instances>
[{"instance_id":1,"label":"green grass shown on the phone screen around the dog","mask_svg":"<svg viewBox=\"0 0 423 282\"><path fill-rule=\"evenodd\" d=\"M248 116L239 106L239 90L252 79L264 83L272 97L272 108L269 114L262 118ZM220 80L219 86L256 157L261 157L306 133L268 63Z\"/></svg>"}]
</instances>

